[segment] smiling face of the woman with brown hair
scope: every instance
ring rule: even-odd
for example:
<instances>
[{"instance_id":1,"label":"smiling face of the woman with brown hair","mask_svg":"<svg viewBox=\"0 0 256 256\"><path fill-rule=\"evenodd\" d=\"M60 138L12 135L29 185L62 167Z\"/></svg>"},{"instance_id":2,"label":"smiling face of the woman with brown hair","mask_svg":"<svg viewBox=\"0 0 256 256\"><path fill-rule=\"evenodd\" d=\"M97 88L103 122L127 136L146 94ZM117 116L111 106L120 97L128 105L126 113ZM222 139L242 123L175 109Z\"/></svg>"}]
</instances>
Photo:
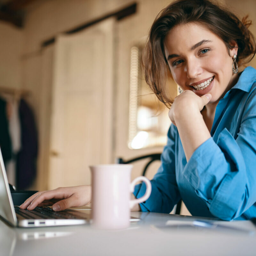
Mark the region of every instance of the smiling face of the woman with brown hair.
<instances>
[{"instance_id":1,"label":"smiling face of the woman with brown hair","mask_svg":"<svg viewBox=\"0 0 256 256\"><path fill-rule=\"evenodd\" d=\"M229 51L230 56L222 39L206 27L197 23L175 26L165 37L164 49L173 79L183 90L198 96L211 93L213 103L234 85L231 56L237 48Z\"/></svg>"}]
</instances>

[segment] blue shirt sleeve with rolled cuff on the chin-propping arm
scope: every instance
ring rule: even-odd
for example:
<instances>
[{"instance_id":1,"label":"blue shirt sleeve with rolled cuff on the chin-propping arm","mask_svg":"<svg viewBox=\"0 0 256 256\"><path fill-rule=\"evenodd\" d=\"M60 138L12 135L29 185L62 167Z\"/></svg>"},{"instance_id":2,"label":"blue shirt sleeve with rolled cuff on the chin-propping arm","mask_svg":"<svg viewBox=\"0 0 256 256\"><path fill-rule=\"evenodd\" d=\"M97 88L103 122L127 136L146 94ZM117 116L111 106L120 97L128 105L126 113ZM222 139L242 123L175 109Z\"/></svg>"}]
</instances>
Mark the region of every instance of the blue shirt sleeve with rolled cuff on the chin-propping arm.
<instances>
[{"instance_id":1,"label":"blue shirt sleeve with rolled cuff on the chin-propping arm","mask_svg":"<svg viewBox=\"0 0 256 256\"><path fill-rule=\"evenodd\" d=\"M254 90L236 139L223 129L216 142L210 138L195 150L183 170L210 212L223 220L239 217L256 202L255 97Z\"/></svg>"}]
</instances>

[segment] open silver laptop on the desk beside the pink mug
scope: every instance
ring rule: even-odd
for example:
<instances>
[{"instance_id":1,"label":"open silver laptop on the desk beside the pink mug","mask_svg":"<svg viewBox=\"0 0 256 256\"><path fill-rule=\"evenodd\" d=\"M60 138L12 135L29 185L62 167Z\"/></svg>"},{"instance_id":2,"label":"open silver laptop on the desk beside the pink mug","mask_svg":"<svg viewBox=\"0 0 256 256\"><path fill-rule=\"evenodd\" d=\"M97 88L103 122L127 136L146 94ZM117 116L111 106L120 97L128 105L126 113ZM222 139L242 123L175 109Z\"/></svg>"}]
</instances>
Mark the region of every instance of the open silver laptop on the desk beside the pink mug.
<instances>
[{"instance_id":1,"label":"open silver laptop on the desk beside the pink mug","mask_svg":"<svg viewBox=\"0 0 256 256\"><path fill-rule=\"evenodd\" d=\"M78 210L79 209L79 210ZM54 212L51 207L36 207L33 211L14 206L0 148L0 218L12 227L46 227L82 225L90 223L90 208L80 207ZM130 221L140 219L131 217Z\"/></svg>"}]
</instances>

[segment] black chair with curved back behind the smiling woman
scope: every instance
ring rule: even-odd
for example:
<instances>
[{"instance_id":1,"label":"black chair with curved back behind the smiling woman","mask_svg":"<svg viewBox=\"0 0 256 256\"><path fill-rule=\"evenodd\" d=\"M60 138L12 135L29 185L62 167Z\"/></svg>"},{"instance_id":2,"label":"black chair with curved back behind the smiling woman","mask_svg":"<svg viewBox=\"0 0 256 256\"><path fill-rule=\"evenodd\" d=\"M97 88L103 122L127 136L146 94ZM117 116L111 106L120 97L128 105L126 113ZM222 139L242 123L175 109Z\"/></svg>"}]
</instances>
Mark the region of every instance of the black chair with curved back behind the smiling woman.
<instances>
[{"instance_id":1,"label":"black chair with curved back behind the smiling woman","mask_svg":"<svg viewBox=\"0 0 256 256\"><path fill-rule=\"evenodd\" d=\"M136 158L129 159L127 161L125 161L123 158L119 157L119 158L116 158L116 163L117 164L130 164L130 163L133 163L133 162L145 159L145 158L149 158L149 161L145 165L143 172L142 172L142 176L145 176L149 165L152 164L156 160L160 161L161 160L160 157L161 157L161 153L139 156ZM180 208L181 208L181 200L178 202L178 204L176 204L175 214L180 214Z\"/></svg>"}]
</instances>

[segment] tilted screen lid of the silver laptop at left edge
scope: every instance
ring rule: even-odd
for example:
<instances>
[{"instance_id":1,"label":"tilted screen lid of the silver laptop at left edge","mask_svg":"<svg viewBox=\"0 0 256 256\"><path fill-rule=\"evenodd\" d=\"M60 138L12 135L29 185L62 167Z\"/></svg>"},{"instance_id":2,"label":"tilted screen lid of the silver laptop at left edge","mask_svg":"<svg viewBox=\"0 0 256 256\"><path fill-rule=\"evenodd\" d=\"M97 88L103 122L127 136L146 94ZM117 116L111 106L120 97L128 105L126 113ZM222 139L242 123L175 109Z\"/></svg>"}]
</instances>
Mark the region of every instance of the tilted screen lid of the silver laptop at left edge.
<instances>
[{"instance_id":1,"label":"tilted screen lid of the silver laptop at left edge","mask_svg":"<svg viewBox=\"0 0 256 256\"><path fill-rule=\"evenodd\" d=\"M4 160L0 148L0 216L17 226L17 218L14 212L12 195L9 188L7 175L4 168Z\"/></svg>"}]
</instances>

